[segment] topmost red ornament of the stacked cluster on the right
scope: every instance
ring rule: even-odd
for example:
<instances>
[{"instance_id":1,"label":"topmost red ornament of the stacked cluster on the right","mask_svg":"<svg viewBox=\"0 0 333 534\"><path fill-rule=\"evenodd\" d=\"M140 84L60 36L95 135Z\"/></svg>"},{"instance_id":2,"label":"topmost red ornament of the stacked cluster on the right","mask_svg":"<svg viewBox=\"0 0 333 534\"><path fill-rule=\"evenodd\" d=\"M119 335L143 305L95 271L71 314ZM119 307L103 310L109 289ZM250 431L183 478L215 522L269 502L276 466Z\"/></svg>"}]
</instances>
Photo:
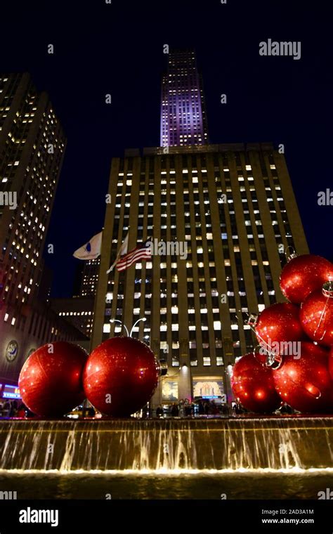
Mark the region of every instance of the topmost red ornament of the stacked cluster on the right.
<instances>
[{"instance_id":1,"label":"topmost red ornament of the stacked cluster on the right","mask_svg":"<svg viewBox=\"0 0 333 534\"><path fill-rule=\"evenodd\" d=\"M286 299L301 304L309 294L333 280L333 264L313 254L292 258L282 269L280 287Z\"/></svg>"}]
</instances>

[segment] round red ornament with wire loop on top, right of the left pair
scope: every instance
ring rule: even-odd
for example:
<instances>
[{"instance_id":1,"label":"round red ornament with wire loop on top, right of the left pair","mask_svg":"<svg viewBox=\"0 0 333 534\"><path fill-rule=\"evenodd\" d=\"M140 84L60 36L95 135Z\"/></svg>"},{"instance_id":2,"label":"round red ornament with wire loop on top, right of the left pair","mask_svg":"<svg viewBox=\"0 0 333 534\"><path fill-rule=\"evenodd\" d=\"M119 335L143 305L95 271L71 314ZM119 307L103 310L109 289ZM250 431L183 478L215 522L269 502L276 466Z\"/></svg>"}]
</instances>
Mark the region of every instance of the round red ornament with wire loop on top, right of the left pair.
<instances>
[{"instance_id":1,"label":"round red ornament with wire loop on top, right of the left pair","mask_svg":"<svg viewBox=\"0 0 333 534\"><path fill-rule=\"evenodd\" d=\"M159 377L150 348L133 337L113 337L93 350L84 370L84 391L105 415L129 417L148 403Z\"/></svg>"}]
</instances>

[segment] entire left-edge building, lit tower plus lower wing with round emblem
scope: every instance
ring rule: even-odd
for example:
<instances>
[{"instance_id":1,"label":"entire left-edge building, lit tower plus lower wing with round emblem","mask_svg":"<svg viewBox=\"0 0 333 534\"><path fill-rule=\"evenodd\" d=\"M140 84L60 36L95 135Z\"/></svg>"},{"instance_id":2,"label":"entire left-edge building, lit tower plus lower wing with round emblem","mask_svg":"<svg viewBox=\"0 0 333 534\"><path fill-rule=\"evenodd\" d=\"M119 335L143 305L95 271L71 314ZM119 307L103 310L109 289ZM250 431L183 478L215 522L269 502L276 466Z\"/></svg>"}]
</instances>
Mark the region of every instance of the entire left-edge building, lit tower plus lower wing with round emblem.
<instances>
[{"instance_id":1,"label":"entire left-edge building, lit tower plus lower wing with round emblem","mask_svg":"<svg viewBox=\"0 0 333 534\"><path fill-rule=\"evenodd\" d=\"M47 304L42 253L65 136L30 74L0 75L0 376L17 384L22 363L46 342L86 341Z\"/></svg>"}]
</instances>

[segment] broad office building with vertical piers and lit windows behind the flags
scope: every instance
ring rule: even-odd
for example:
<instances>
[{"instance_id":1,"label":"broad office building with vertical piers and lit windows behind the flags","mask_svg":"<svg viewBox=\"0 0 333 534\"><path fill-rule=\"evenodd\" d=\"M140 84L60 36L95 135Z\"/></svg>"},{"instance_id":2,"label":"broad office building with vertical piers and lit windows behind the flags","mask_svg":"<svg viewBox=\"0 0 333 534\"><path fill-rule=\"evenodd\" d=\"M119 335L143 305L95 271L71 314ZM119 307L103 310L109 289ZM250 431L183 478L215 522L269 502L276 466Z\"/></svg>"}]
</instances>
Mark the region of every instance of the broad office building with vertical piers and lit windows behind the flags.
<instances>
[{"instance_id":1,"label":"broad office building with vertical piers and lit windows behind the flags","mask_svg":"<svg viewBox=\"0 0 333 534\"><path fill-rule=\"evenodd\" d=\"M283 300L287 247L308 253L285 157L270 143L129 154L112 161L92 347L122 332L110 319L145 317L133 335L169 369L155 404L230 395L226 368L256 344L247 313ZM107 274L128 229L129 250L178 245Z\"/></svg>"}]
</instances>

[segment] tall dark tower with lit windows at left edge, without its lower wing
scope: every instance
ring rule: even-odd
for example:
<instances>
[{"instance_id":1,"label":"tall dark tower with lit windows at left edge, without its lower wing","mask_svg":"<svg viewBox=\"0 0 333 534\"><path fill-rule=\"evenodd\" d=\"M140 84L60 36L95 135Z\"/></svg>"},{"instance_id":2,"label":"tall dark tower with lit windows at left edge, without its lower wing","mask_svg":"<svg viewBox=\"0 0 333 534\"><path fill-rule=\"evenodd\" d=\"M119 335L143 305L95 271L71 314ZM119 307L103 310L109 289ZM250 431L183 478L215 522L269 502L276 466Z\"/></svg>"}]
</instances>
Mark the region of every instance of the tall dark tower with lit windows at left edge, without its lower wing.
<instances>
[{"instance_id":1,"label":"tall dark tower with lit windows at left edge, without its lower wing","mask_svg":"<svg viewBox=\"0 0 333 534\"><path fill-rule=\"evenodd\" d=\"M9 313L38 292L41 254L65 136L46 93L30 74L0 76L1 300Z\"/></svg>"}]
</instances>

